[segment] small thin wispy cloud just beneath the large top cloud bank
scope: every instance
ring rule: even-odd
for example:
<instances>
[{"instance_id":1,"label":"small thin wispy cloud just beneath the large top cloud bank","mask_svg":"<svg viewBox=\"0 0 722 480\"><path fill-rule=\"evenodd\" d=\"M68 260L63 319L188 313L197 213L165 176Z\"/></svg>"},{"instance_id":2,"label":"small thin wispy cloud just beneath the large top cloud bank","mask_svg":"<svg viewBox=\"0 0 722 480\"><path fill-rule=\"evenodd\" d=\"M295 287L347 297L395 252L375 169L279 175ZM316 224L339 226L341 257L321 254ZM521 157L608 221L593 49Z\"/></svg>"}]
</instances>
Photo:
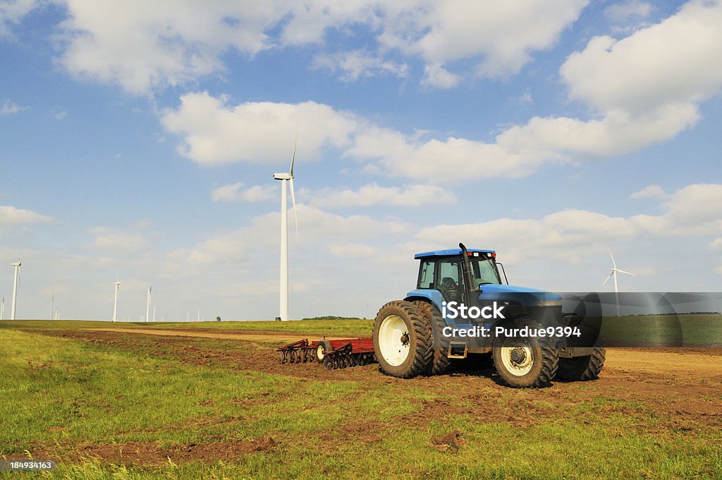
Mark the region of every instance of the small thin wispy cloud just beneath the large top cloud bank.
<instances>
[{"instance_id":1,"label":"small thin wispy cloud just beneath the large top cloud bank","mask_svg":"<svg viewBox=\"0 0 722 480\"><path fill-rule=\"evenodd\" d=\"M360 77L374 77L391 74L395 77L407 77L409 66L395 61L384 60L363 50L346 51L334 54L322 54L313 60L314 68L342 72L341 80L355 82Z\"/></svg>"}]
</instances>

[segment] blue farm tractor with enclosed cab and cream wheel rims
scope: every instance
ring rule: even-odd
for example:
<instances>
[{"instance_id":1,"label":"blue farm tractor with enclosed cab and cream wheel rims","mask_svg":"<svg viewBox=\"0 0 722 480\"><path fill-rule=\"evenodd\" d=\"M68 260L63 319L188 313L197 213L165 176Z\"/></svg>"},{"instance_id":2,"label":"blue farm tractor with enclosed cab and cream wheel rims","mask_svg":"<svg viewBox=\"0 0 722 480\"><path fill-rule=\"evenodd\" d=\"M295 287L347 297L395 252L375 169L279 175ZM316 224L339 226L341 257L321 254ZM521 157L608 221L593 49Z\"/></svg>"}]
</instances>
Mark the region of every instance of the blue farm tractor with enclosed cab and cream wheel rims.
<instances>
[{"instance_id":1,"label":"blue farm tractor with enclosed cab and cream wheel rims","mask_svg":"<svg viewBox=\"0 0 722 480\"><path fill-rule=\"evenodd\" d=\"M493 250L438 250L421 260L417 288L378 311L373 346L380 369L412 378L446 372L454 359L491 353L511 387L544 387L552 379L595 379L604 348L570 346L578 332L562 316L556 293L510 286ZM501 270L500 270L501 267ZM541 330L544 330L541 332Z\"/></svg>"}]
</instances>

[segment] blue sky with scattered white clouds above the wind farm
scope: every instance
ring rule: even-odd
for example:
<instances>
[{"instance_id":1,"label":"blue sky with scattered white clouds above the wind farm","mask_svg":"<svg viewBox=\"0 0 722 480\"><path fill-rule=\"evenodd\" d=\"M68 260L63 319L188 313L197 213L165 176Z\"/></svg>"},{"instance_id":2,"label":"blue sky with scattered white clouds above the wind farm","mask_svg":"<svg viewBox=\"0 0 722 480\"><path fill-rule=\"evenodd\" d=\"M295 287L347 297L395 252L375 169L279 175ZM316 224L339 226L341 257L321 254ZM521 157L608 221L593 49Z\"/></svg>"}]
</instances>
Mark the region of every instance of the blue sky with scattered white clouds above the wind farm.
<instances>
[{"instance_id":1,"label":"blue sky with scattered white clouds above the wind farm","mask_svg":"<svg viewBox=\"0 0 722 480\"><path fill-rule=\"evenodd\" d=\"M511 283L722 280L722 4L0 1L0 295L19 318L372 316L413 253ZM292 219L292 215L290 217ZM293 231L293 228L291 228Z\"/></svg>"}]
</instances>

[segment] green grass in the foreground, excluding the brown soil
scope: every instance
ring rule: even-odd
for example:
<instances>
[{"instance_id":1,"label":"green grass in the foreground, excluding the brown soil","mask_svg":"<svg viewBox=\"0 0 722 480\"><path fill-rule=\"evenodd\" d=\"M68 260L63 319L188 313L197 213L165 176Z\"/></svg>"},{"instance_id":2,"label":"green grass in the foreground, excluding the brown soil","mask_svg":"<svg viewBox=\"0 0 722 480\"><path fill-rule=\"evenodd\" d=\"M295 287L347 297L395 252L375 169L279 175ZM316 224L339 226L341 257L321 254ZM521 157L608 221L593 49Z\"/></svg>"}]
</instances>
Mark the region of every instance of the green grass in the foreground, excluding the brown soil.
<instances>
[{"instance_id":1,"label":"green grass in the foreground, excluding the brown soil","mask_svg":"<svg viewBox=\"0 0 722 480\"><path fill-rule=\"evenodd\" d=\"M130 351L15 330L43 327L40 324L4 323L0 457L54 447L61 463L48 477L722 477L718 429L695 424L693 433L653 433L645 427L654 427L659 419L643 400L592 392L591 398L562 406L552 403L545 390L500 390L493 382L474 379L479 380L474 395L488 399L484 401L490 410L451 409L464 406L465 398L454 390L452 380L441 377L433 389L414 380L388 382L380 374L346 380L329 374L324 380L308 380L222 364L182 364L144 353L143 343ZM285 330L301 322L267 323L262 329ZM587 390L578 391L589 396ZM435 404L433 415L415 415ZM529 406L539 414L519 413ZM528 422L516 423L520 418ZM461 433L459 445L435 444L435 438L455 430ZM90 456L68 461L63 456L88 443L158 442L173 447L268 437L277 447L229 461L149 466L104 463ZM25 476L30 475L12 474Z\"/></svg>"}]
</instances>

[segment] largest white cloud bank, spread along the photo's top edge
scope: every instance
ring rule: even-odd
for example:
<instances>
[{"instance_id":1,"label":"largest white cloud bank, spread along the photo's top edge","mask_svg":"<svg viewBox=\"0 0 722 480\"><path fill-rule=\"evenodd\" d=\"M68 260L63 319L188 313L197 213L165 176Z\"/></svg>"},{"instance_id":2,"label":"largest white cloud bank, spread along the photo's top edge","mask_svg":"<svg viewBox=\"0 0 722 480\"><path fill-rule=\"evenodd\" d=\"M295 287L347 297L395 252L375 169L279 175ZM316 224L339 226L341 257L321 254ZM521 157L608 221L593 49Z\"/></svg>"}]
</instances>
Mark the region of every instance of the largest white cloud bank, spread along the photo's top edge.
<instances>
[{"instance_id":1,"label":"largest white cloud bank, spread along the photo's top edge","mask_svg":"<svg viewBox=\"0 0 722 480\"><path fill-rule=\"evenodd\" d=\"M222 57L231 49L253 56L269 48L313 46L323 59L328 33L334 33L334 43L338 38L350 43L358 30L380 56L401 53L433 66L435 75L427 70L429 85L448 85L453 77L442 75L443 65L464 59L475 64L477 75L505 77L531 61L535 51L553 46L588 3L66 1L68 18L56 37L59 64L77 77L121 85L136 95L223 72ZM0 17L0 28L41 3L13 2ZM403 62L380 57L349 53L338 60L345 80L406 74Z\"/></svg>"}]
</instances>

